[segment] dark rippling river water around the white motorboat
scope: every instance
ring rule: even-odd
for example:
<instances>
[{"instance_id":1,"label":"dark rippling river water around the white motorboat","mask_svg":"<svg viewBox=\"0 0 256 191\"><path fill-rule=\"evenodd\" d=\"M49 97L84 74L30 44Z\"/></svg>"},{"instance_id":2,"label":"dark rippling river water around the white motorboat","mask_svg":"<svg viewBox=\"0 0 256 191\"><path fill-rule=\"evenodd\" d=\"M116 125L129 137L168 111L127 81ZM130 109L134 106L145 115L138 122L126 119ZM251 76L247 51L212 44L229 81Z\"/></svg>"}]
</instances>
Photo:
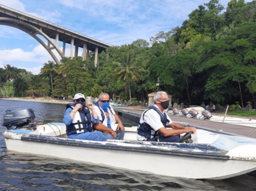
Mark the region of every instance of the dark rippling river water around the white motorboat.
<instances>
[{"instance_id":1,"label":"dark rippling river water around the white motorboat","mask_svg":"<svg viewBox=\"0 0 256 191\"><path fill-rule=\"evenodd\" d=\"M256 190L254 173L226 180L180 179L7 151L2 120L8 107L31 108L43 123L62 122L65 110L64 104L0 100L0 190Z\"/></svg>"}]
</instances>

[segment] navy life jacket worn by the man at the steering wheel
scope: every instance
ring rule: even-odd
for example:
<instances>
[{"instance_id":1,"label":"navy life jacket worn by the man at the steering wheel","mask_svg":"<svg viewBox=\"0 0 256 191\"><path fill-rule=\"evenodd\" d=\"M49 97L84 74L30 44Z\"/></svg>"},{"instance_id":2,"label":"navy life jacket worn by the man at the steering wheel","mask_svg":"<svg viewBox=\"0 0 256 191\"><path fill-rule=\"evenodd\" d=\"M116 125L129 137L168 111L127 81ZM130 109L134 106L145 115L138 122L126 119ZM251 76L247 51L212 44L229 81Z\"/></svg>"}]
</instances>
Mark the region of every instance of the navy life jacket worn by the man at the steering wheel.
<instances>
[{"instance_id":1,"label":"navy life jacket worn by the man at the steering wheel","mask_svg":"<svg viewBox=\"0 0 256 191\"><path fill-rule=\"evenodd\" d=\"M149 106L148 109L143 113L142 119L144 120L144 115L146 112L148 112L149 109L153 109L153 110L155 110L155 112L157 112L159 114L159 116L161 117L161 122L163 123L163 126L166 127L166 123L170 122L169 120L167 120L167 114L166 113L163 114L155 106ZM158 130L156 130L156 131L154 130L155 133L151 134L151 130L154 130L154 129L152 129L148 123L143 122L143 123L139 123L137 132L139 135L145 136L145 138L148 138L148 139L151 138L151 136L155 137L160 134L160 132Z\"/></svg>"}]
</instances>

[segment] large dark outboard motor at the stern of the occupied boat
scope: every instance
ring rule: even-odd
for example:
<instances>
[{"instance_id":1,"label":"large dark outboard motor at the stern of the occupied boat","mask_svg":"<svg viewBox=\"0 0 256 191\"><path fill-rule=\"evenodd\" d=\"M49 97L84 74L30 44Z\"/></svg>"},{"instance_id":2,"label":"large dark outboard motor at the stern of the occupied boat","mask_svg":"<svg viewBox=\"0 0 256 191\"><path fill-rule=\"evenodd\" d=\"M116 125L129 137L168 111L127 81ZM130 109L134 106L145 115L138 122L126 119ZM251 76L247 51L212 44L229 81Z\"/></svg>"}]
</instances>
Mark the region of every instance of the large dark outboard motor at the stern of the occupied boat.
<instances>
[{"instance_id":1,"label":"large dark outboard motor at the stern of the occupied boat","mask_svg":"<svg viewBox=\"0 0 256 191\"><path fill-rule=\"evenodd\" d=\"M3 125L8 129L21 129L24 126L31 129L35 128L35 113L32 109L24 109L23 107L10 107L4 113Z\"/></svg>"}]
</instances>

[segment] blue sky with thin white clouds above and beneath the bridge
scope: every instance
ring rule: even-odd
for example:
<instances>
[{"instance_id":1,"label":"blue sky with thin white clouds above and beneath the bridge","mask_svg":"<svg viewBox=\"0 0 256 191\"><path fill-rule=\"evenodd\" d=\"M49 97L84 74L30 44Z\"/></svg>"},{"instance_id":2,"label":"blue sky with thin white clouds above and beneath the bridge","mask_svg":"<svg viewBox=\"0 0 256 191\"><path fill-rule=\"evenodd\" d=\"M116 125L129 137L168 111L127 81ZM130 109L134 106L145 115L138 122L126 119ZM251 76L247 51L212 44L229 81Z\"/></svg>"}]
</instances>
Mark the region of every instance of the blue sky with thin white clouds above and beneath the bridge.
<instances>
[{"instance_id":1,"label":"blue sky with thin white clouds above and beneath the bridge","mask_svg":"<svg viewBox=\"0 0 256 191\"><path fill-rule=\"evenodd\" d=\"M0 0L0 4L120 46L137 39L149 42L159 31L182 26L189 13L210 0ZM225 8L230 0L220 0ZM249 2L245 1L245 2ZM43 39L46 43L46 40ZM59 42L62 50L63 44ZM53 51L54 52L54 51ZM66 45L65 56L70 56ZM60 56L55 52L60 60ZM79 49L79 56L82 49ZM17 28L0 25L0 68L10 64L39 74L53 61L41 44Z\"/></svg>"}]
</instances>

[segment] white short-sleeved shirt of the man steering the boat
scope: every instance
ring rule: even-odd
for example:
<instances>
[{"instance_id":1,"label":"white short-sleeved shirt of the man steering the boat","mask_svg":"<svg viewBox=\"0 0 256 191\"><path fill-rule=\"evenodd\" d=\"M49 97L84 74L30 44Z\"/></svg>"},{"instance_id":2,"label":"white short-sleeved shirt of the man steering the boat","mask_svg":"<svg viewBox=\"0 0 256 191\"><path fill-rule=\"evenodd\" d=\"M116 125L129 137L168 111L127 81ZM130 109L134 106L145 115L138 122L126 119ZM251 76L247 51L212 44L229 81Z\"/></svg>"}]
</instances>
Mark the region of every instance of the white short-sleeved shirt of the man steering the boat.
<instances>
[{"instance_id":1,"label":"white short-sleeved shirt of the man steering the boat","mask_svg":"<svg viewBox=\"0 0 256 191\"><path fill-rule=\"evenodd\" d=\"M157 107L157 105L154 105L154 107ZM157 107L158 109L158 107ZM160 109L158 109L160 111ZM146 113L145 113L146 112ZM158 129L160 128L164 128L164 125L163 123L161 122L161 117L160 115L155 112L154 109L149 109L149 110L145 110L145 112L143 112L144 114L144 120L143 120L143 114L141 115L141 119L139 120L139 123L147 123L148 125L151 126L152 129L154 130L151 130L151 134L154 134L155 131L157 131ZM161 112L161 111L160 111ZM161 113L166 113L165 110ZM169 120L169 122L166 123L166 125L170 125L172 123L170 117L168 116L168 114L166 113L167 115L167 120ZM151 136L151 138L153 138L153 136ZM137 140L138 141L145 141L147 138L145 138L145 136L141 136L137 133Z\"/></svg>"}]
</instances>

